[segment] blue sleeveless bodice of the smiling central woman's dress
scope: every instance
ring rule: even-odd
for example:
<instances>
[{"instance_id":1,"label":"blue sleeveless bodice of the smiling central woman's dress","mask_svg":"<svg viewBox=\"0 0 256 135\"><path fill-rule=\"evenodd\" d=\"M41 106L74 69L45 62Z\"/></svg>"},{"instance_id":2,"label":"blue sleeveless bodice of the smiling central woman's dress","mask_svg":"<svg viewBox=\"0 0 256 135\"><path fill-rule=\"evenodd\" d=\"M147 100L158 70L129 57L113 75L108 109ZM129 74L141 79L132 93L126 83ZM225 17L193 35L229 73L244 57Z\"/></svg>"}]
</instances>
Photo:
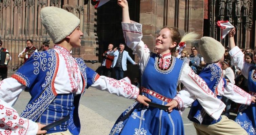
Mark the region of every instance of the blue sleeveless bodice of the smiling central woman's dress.
<instances>
[{"instance_id":1,"label":"blue sleeveless bodice of the smiling central woman's dress","mask_svg":"<svg viewBox=\"0 0 256 135\"><path fill-rule=\"evenodd\" d=\"M183 60L172 56L171 64L167 70L161 70L158 66L158 56L152 53L142 74L141 86L153 90L166 98L173 99L177 93L179 78L184 67ZM167 65L168 66L168 65ZM162 104L162 101L145 94L153 103ZM165 103L166 104L166 103Z\"/></svg>"}]
</instances>

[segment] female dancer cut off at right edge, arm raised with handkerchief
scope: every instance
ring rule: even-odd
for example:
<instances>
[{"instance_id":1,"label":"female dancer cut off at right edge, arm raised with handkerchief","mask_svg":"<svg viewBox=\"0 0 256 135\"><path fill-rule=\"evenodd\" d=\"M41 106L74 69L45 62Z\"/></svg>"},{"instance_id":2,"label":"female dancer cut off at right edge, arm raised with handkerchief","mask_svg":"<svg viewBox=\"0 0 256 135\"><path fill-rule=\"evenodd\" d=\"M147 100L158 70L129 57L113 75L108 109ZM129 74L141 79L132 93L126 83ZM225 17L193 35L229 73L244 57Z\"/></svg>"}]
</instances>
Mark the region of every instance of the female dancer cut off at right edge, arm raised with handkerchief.
<instances>
[{"instance_id":1,"label":"female dancer cut off at right edge, arm raised with handkerchief","mask_svg":"<svg viewBox=\"0 0 256 135\"><path fill-rule=\"evenodd\" d=\"M237 66L243 76L248 79L248 89L249 93L256 96L256 66L253 64L246 63L244 61L244 54L235 45L234 35L236 33L235 28L233 28L229 33L229 45L230 45L230 56L232 64ZM256 62L256 48L253 51L253 60ZM247 131L248 135L256 134L256 104L251 104L250 106L241 105L238 110L237 117L235 121Z\"/></svg>"}]
</instances>

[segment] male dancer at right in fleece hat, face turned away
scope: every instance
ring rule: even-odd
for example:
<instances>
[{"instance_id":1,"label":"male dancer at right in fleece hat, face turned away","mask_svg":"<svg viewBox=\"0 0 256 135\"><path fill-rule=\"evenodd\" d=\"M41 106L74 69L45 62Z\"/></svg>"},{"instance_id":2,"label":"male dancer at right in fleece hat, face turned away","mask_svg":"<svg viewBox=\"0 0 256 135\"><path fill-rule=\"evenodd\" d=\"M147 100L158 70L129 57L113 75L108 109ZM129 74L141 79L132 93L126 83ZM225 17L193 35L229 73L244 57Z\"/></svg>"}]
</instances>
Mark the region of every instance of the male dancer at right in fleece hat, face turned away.
<instances>
[{"instance_id":1,"label":"male dancer at right in fleece hat, face turned away","mask_svg":"<svg viewBox=\"0 0 256 135\"><path fill-rule=\"evenodd\" d=\"M255 103L254 96L223 78L221 62L224 60L225 49L220 42L212 37L202 37L199 49L207 63L199 76L219 99L225 96L240 104ZM197 100L192 103L188 118L194 122L198 135L247 135L244 129L227 116L223 115L218 120L211 118Z\"/></svg>"}]
</instances>

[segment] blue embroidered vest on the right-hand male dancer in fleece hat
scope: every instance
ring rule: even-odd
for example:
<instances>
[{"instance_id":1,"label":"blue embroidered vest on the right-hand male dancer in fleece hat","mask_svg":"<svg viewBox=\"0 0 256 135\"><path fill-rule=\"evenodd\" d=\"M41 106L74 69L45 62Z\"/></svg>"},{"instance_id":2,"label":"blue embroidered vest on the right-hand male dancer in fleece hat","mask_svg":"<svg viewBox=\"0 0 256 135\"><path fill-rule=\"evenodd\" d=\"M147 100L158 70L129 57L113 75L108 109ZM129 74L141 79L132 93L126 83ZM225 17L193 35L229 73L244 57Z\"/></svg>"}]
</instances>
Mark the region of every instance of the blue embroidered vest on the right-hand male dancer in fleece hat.
<instances>
[{"instance_id":1,"label":"blue embroidered vest on the right-hand male dancer in fleece hat","mask_svg":"<svg viewBox=\"0 0 256 135\"><path fill-rule=\"evenodd\" d=\"M218 63L206 65L199 76L206 82L207 86L212 90L212 92L217 95L218 84L220 83L221 78L223 78L222 69ZM224 78L223 81L224 86L226 86L227 82ZM217 96L217 98L221 99L221 96ZM194 123L204 125L215 124L221 120L221 117L218 120L215 120L210 115L208 115L203 107L199 104L198 100L195 100L192 103L188 118Z\"/></svg>"}]
</instances>

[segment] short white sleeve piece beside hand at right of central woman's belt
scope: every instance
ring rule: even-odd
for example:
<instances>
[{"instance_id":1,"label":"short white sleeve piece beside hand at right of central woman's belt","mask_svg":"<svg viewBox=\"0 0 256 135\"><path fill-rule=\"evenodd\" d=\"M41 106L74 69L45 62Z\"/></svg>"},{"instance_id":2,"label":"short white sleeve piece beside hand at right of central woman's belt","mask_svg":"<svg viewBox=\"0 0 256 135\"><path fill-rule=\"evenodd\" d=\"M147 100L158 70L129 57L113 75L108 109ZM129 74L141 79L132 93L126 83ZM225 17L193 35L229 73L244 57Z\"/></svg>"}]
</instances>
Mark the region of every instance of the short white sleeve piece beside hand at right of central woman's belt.
<instances>
[{"instance_id":1,"label":"short white sleeve piece beside hand at right of central woman's belt","mask_svg":"<svg viewBox=\"0 0 256 135\"><path fill-rule=\"evenodd\" d=\"M176 94L173 100L179 103L179 110L184 111L185 108L189 107L196 100L196 97L190 90L184 87Z\"/></svg>"}]
</instances>

